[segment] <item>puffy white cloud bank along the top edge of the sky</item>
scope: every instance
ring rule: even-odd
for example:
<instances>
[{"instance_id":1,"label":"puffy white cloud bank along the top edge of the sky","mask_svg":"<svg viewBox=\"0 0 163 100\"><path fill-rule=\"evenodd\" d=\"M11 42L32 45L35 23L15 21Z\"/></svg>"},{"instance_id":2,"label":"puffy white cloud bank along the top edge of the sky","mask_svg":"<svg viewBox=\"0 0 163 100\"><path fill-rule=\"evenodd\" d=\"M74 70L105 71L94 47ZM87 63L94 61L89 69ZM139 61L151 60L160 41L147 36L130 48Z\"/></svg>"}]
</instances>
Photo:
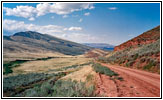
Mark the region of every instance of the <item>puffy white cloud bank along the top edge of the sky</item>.
<instances>
[{"instance_id":1,"label":"puffy white cloud bank along the top edge of the sky","mask_svg":"<svg viewBox=\"0 0 163 100\"><path fill-rule=\"evenodd\" d=\"M55 13L58 15L67 15L75 11L85 9L94 9L93 3L40 3L36 7L17 6L16 8L3 7L7 16L17 16L24 18L33 18L43 16L47 13Z\"/></svg>"}]
</instances>

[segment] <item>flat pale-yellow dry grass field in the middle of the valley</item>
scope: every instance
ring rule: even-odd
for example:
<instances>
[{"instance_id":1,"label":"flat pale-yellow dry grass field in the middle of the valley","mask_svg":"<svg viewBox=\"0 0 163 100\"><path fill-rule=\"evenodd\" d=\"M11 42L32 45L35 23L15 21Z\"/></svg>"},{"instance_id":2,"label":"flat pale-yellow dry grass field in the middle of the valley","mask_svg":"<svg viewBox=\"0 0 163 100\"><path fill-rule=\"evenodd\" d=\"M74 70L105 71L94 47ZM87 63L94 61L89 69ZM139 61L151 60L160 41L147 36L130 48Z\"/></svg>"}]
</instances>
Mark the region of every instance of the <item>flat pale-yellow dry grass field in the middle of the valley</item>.
<instances>
[{"instance_id":1,"label":"flat pale-yellow dry grass field in the middle of the valley","mask_svg":"<svg viewBox=\"0 0 163 100\"><path fill-rule=\"evenodd\" d=\"M61 67L87 63L90 60L90 58L84 57L64 57L49 59L46 61L29 61L23 63L20 67L13 68L13 72L17 74L29 72L48 72Z\"/></svg>"}]
</instances>

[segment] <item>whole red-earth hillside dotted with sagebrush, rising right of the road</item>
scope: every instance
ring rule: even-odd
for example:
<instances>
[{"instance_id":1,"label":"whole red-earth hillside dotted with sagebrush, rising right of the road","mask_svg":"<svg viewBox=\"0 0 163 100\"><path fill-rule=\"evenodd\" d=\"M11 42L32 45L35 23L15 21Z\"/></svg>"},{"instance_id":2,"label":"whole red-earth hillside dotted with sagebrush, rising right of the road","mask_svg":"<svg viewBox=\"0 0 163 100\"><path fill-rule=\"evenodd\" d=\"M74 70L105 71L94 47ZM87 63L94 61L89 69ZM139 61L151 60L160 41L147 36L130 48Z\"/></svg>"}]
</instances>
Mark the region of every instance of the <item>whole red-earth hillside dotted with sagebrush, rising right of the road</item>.
<instances>
[{"instance_id":1,"label":"whole red-earth hillside dotted with sagebrush, rising right of the road","mask_svg":"<svg viewBox=\"0 0 163 100\"><path fill-rule=\"evenodd\" d=\"M160 72L160 26L114 48L100 61L125 67Z\"/></svg>"}]
</instances>

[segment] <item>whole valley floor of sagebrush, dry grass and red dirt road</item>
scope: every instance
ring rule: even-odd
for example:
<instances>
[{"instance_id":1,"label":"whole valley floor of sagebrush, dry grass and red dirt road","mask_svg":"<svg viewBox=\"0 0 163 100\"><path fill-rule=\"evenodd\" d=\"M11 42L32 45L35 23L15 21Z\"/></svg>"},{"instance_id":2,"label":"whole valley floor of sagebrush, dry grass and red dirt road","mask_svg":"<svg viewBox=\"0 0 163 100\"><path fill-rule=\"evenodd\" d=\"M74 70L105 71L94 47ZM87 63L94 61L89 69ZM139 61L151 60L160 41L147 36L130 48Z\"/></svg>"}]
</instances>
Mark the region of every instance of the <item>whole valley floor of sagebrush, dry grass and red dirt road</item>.
<instances>
[{"instance_id":1,"label":"whole valley floor of sagebrush, dry grass and red dirt road","mask_svg":"<svg viewBox=\"0 0 163 100\"><path fill-rule=\"evenodd\" d=\"M101 68L102 66L99 64L100 69L95 70L93 67L94 60L83 55L55 55L53 57L54 58L50 59L43 59L43 57L39 60L31 60L13 67L12 73L3 75L4 96L160 96L159 74L104 63L101 63L101 65L106 67L106 69ZM105 73L105 71L107 69L117 73L117 75L106 75L107 73ZM100 73L101 70L103 70L104 73ZM72 88L74 88L73 90L71 84ZM95 88L93 88L93 86ZM75 90L76 87L79 90ZM65 90L65 88L70 91ZM81 92L83 91L83 88L85 88L84 93ZM87 92L90 92L90 94Z\"/></svg>"}]
</instances>

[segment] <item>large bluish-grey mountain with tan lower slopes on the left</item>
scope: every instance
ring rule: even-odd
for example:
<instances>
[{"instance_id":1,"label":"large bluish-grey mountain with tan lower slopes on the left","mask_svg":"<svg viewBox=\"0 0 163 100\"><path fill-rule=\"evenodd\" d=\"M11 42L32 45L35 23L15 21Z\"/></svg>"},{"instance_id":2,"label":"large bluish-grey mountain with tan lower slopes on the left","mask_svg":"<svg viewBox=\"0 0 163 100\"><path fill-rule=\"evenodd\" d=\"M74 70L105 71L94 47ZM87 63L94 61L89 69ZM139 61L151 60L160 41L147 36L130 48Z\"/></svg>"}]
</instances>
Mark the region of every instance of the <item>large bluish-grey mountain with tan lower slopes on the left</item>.
<instances>
[{"instance_id":1,"label":"large bluish-grey mountain with tan lower slopes on the left","mask_svg":"<svg viewBox=\"0 0 163 100\"><path fill-rule=\"evenodd\" d=\"M34 31L18 32L3 37L4 52L59 52L80 55L91 47Z\"/></svg>"}]
</instances>

